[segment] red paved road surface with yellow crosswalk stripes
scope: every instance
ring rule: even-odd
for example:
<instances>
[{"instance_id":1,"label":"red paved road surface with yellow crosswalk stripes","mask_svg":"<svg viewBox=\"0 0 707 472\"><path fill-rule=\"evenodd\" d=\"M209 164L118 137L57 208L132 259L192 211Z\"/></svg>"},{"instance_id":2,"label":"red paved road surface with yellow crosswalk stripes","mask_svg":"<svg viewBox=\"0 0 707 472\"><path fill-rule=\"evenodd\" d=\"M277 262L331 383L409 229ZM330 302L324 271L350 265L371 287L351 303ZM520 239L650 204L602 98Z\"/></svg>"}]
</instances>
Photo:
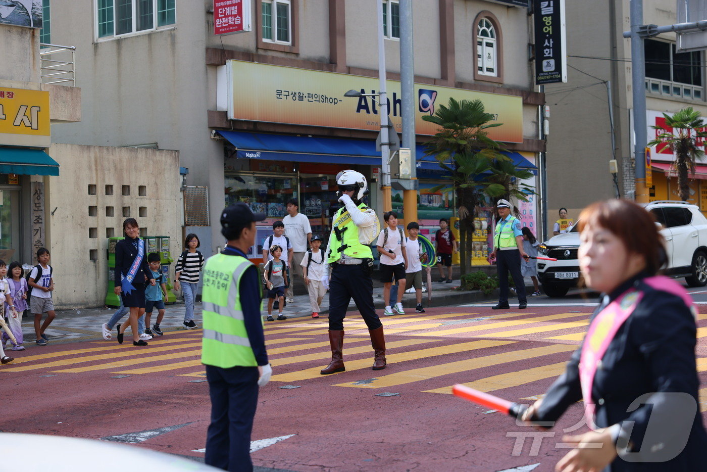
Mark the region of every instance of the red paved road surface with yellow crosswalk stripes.
<instances>
[{"instance_id":1,"label":"red paved road surface with yellow crosswalk stripes","mask_svg":"<svg viewBox=\"0 0 707 472\"><path fill-rule=\"evenodd\" d=\"M328 359L325 318L268 323L276 375L261 391L253 439L296 435L254 452L254 463L292 471L498 471L537 463L535 471L551 470L565 452L554 447L561 434L544 438L532 455L527 440L514 455L515 437L508 433L527 427L430 390L474 381L513 400L542 394L578 343L567 338L585 330L589 311L542 307L509 315L443 308L385 318L393 347L380 372L370 370L370 342L356 316L346 327L347 372L332 376L317 373ZM707 321L699 324L707 329ZM0 430L98 439L190 423L139 447L203 456L193 450L204 447L208 384L189 382L203 379L199 335L178 332L141 349L97 341L20 352L16 362L0 367L11 398ZM704 338L698 356L707 357ZM154 372L134 372L144 368ZM110 378L126 371L129 377ZM704 372L701 380L707 381ZM278 388L284 385L300 387ZM381 392L399 396L375 396ZM578 404L555 430L580 417Z\"/></svg>"}]
</instances>

